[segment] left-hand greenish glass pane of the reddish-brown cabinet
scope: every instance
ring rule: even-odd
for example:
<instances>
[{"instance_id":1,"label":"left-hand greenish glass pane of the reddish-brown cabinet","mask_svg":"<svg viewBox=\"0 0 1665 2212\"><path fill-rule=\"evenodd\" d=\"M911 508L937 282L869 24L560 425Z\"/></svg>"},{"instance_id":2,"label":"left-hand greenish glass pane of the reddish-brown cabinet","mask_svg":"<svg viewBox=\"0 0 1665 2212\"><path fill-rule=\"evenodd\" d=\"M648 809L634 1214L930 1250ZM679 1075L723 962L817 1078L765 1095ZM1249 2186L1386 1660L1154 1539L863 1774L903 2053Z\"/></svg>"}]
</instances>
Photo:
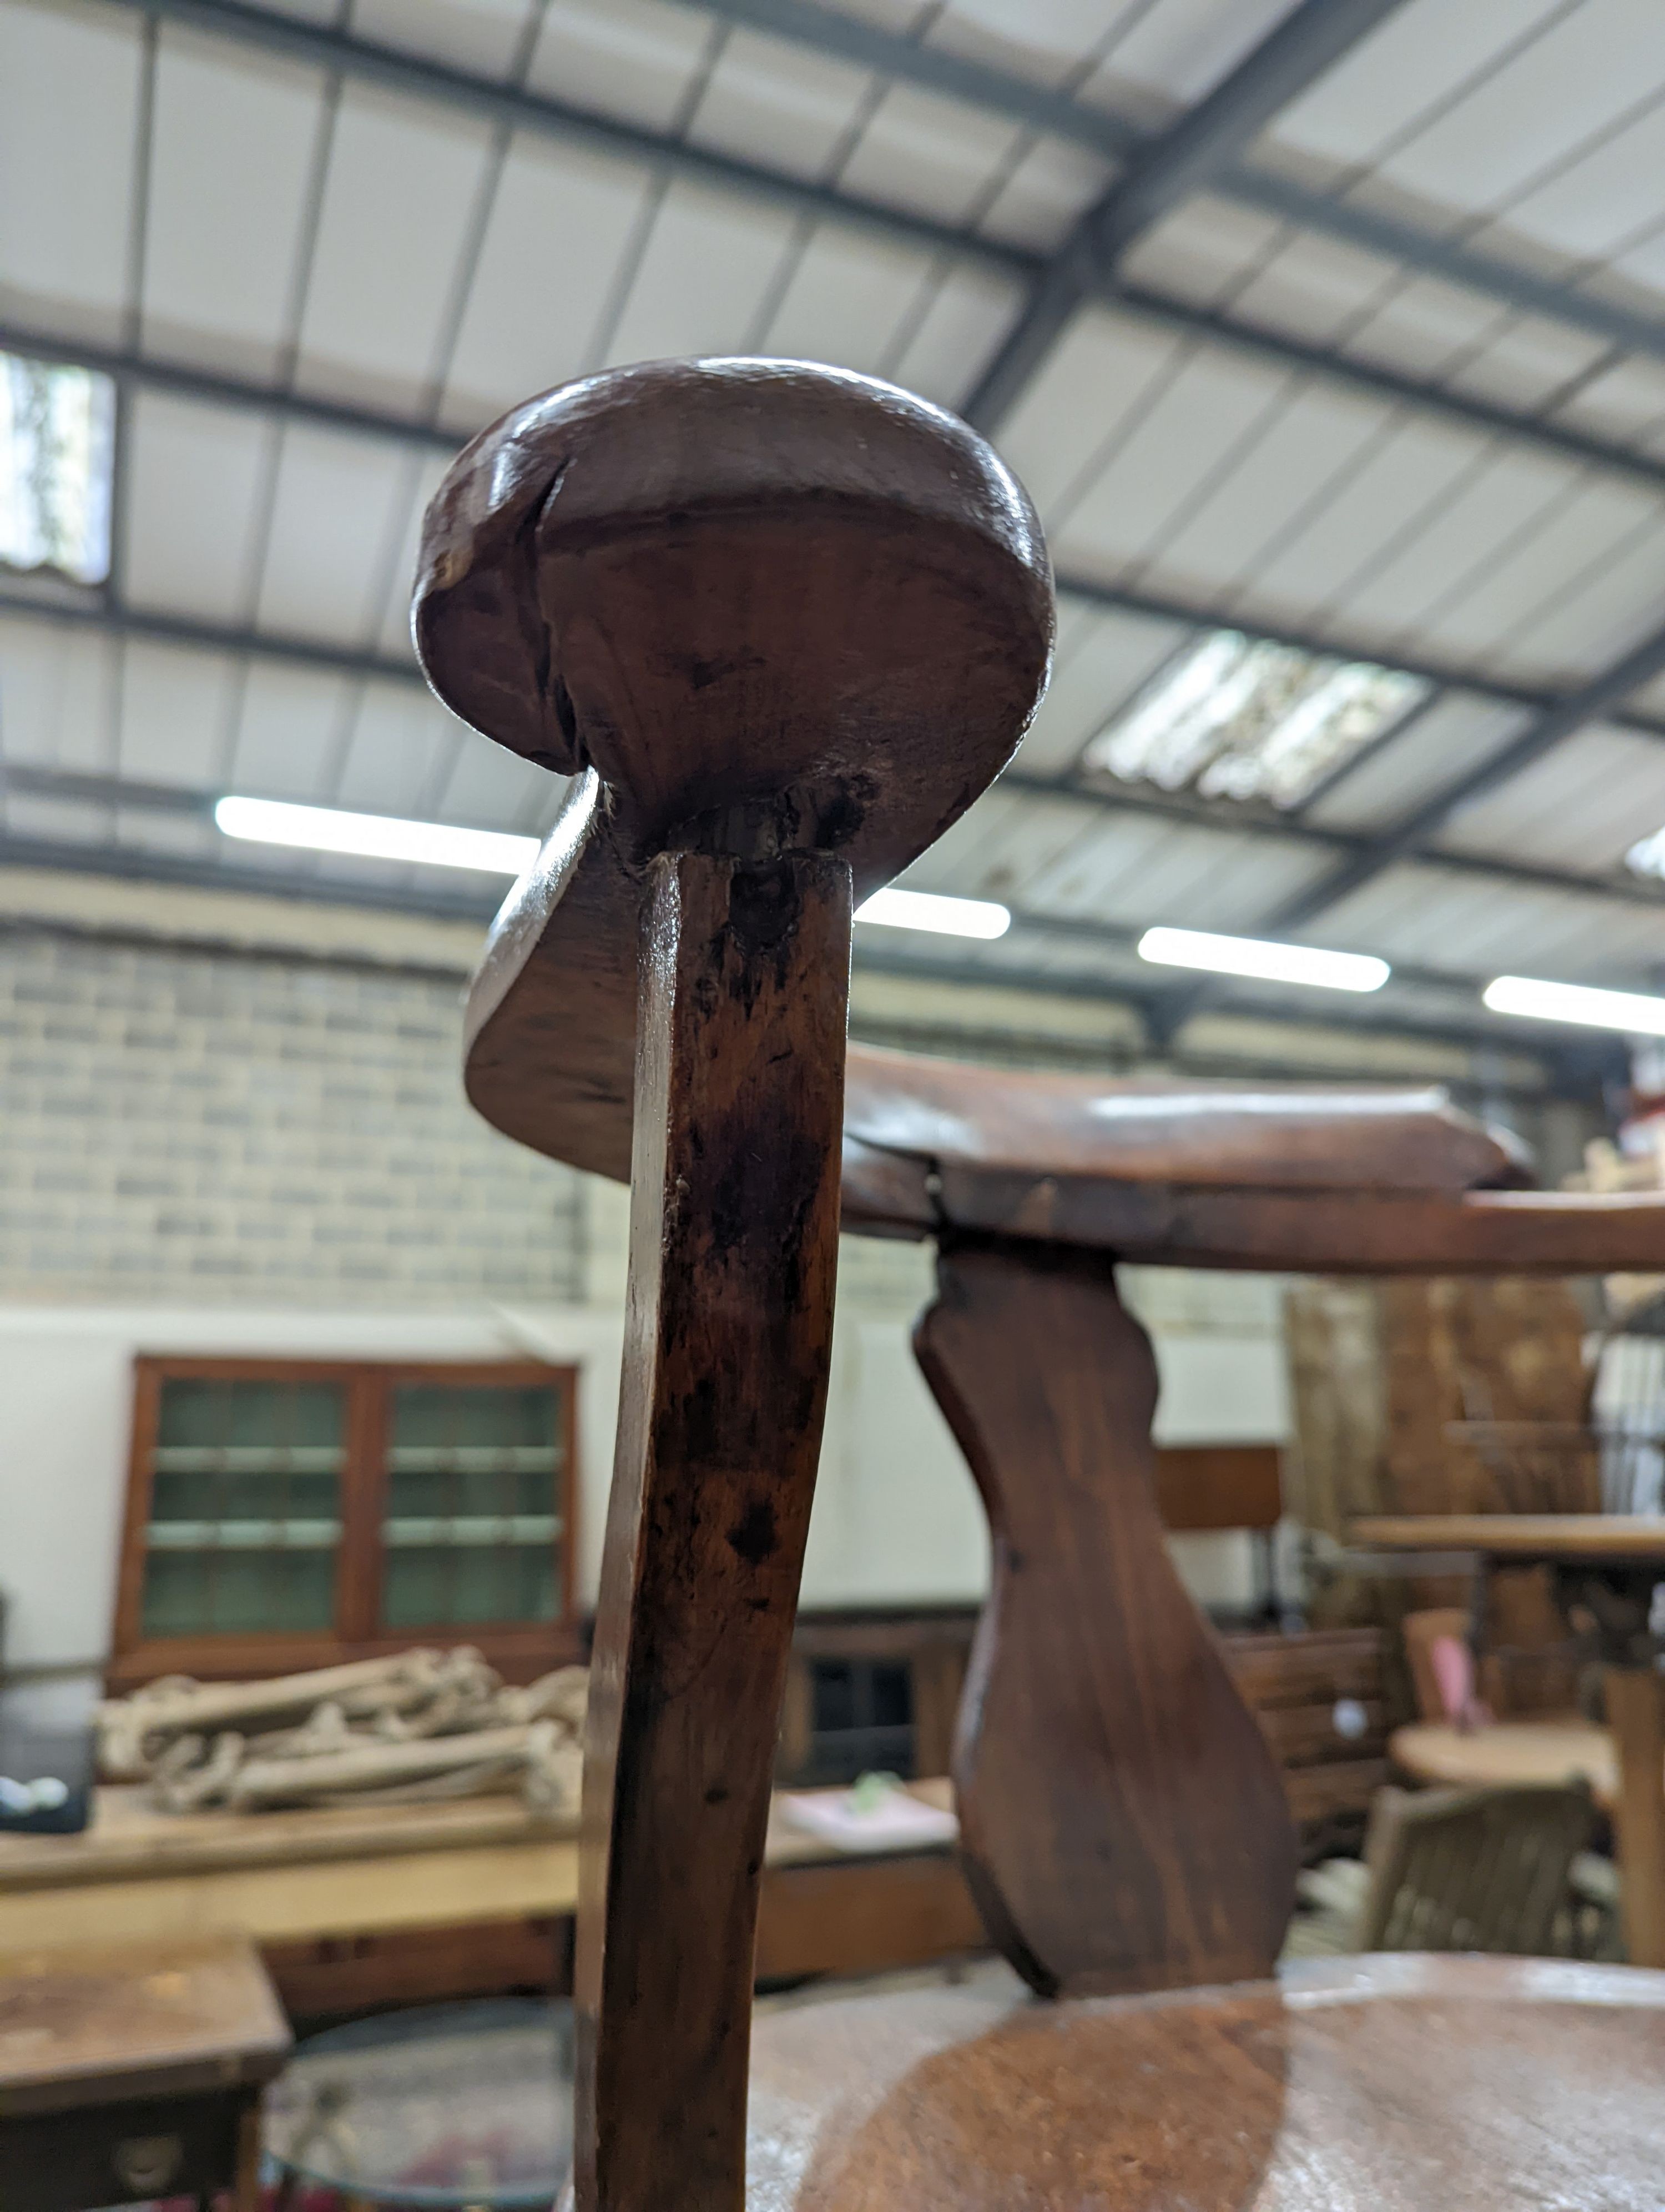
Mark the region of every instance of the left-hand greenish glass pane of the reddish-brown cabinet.
<instances>
[{"instance_id":1,"label":"left-hand greenish glass pane of the reddish-brown cabinet","mask_svg":"<svg viewBox=\"0 0 1665 2212\"><path fill-rule=\"evenodd\" d=\"M341 1383L161 1383L144 1531L146 1637L334 1624L345 1433Z\"/></svg>"}]
</instances>

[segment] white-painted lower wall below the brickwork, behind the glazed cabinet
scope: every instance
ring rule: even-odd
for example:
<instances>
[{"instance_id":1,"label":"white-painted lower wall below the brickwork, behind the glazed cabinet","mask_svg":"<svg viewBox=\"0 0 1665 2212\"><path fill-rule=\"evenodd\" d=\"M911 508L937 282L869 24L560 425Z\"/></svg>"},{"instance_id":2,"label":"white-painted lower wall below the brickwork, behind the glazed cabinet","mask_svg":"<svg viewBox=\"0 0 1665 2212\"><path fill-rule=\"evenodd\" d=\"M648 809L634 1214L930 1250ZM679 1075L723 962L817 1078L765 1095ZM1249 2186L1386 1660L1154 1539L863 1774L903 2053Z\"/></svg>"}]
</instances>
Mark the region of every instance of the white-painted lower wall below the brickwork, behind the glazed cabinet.
<instances>
[{"instance_id":1,"label":"white-painted lower wall below the brickwork, behind the glazed cabinet","mask_svg":"<svg viewBox=\"0 0 1665 2212\"><path fill-rule=\"evenodd\" d=\"M922 1303L913 1298L915 1276L924 1290L929 1261L904 1250L884 1265L887 1281L862 1281L858 1254L840 1303L803 1588L809 1606L975 1601L988 1577L988 1537L971 1475L909 1345L911 1314ZM865 1305L902 1310L865 1312ZM1161 1314L1150 1318L1161 1323ZM1190 1327L1174 1327L1174 1318ZM1170 1316L1156 1332L1159 1438L1282 1440L1287 1405L1276 1334L1249 1332L1252 1316L1212 1334L1196 1318ZM133 1358L142 1352L537 1354L577 1363L577 1582L588 1604L612 1467L621 1334L612 1296L597 1307L482 1305L455 1314L0 1305L0 1586L11 1597L9 1659L97 1659L108 1648ZM1240 1537L1179 1537L1174 1553L1203 1601L1249 1595L1252 1562ZM84 1705L88 1694L33 1692L31 1703L62 1712Z\"/></svg>"}]
</instances>

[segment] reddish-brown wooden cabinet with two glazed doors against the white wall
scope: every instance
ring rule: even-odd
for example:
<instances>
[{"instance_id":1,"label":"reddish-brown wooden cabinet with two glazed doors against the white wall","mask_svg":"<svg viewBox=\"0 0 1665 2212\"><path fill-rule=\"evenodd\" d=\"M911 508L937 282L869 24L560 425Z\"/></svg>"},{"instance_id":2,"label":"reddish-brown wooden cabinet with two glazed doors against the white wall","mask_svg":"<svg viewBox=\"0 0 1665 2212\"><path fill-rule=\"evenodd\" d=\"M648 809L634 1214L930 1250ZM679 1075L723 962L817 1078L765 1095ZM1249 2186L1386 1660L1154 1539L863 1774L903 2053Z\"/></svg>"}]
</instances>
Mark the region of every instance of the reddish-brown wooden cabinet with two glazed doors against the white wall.
<instances>
[{"instance_id":1,"label":"reddish-brown wooden cabinet with two glazed doors against the white wall","mask_svg":"<svg viewBox=\"0 0 1665 2212\"><path fill-rule=\"evenodd\" d=\"M139 1360L119 1683L427 1639L555 1663L575 1374Z\"/></svg>"}]
</instances>

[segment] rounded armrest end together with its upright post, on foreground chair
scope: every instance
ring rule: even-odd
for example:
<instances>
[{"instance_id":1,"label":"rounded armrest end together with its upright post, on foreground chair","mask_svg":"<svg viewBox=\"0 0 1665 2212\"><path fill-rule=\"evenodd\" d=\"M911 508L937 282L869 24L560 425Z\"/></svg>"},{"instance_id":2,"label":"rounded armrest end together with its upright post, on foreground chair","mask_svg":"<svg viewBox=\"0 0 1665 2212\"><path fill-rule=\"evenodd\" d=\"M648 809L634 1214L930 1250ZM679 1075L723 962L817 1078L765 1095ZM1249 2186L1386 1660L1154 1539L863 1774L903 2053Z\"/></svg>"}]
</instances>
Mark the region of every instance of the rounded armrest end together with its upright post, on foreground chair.
<instances>
[{"instance_id":1,"label":"rounded armrest end together with its upright post, on foreground chair","mask_svg":"<svg viewBox=\"0 0 1665 2212\"><path fill-rule=\"evenodd\" d=\"M1015 752L1050 571L1022 489L940 409L803 363L646 363L462 451L413 630L447 706L575 776L475 980L469 1095L632 1186L577 2203L727 2212L831 1347L851 902Z\"/></svg>"}]
</instances>

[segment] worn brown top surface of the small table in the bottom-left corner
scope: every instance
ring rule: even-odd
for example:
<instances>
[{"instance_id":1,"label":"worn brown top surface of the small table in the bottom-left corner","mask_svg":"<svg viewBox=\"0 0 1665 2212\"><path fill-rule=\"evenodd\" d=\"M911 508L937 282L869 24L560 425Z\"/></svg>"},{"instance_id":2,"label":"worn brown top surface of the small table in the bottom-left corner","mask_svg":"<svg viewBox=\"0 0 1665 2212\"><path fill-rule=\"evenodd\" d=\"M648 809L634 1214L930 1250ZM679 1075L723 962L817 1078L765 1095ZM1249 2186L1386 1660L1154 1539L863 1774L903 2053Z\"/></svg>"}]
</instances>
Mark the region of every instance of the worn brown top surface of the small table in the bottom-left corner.
<instances>
[{"instance_id":1,"label":"worn brown top surface of the small table in the bottom-left corner","mask_svg":"<svg viewBox=\"0 0 1665 2212\"><path fill-rule=\"evenodd\" d=\"M243 1936L0 1953L0 2117L270 2081L287 2051Z\"/></svg>"}]
</instances>

